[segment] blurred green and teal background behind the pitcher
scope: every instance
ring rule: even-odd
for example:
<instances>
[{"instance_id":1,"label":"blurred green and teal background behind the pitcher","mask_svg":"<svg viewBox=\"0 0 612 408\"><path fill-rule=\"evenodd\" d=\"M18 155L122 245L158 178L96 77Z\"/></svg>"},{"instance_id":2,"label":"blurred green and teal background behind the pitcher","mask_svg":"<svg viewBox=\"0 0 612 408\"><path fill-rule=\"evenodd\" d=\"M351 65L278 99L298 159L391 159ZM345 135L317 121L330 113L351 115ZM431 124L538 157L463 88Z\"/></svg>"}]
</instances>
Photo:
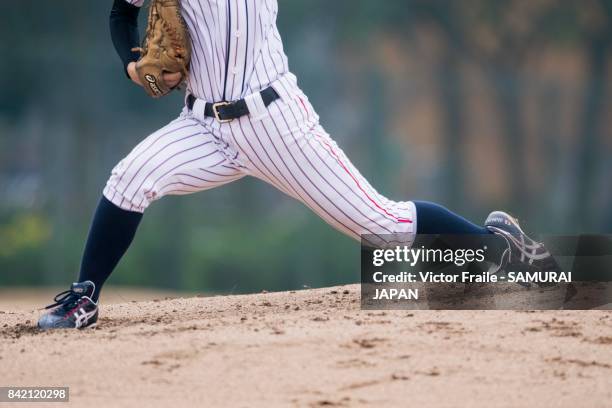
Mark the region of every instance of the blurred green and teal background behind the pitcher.
<instances>
[{"instance_id":1,"label":"blurred green and teal background behind the pitcher","mask_svg":"<svg viewBox=\"0 0 612 408\"><path fill-rule=\"evenodd\" d=\"M0 3L0 286L71 282L111 168L181 108L125 78L111 3ZM612 231L612 1L279 3L292 71L379 191L476 221L506 209L536 234ZM110 283L241 293L358 277L357 243L241 180L154 204Z\"/></svg>"}]
</instances>

